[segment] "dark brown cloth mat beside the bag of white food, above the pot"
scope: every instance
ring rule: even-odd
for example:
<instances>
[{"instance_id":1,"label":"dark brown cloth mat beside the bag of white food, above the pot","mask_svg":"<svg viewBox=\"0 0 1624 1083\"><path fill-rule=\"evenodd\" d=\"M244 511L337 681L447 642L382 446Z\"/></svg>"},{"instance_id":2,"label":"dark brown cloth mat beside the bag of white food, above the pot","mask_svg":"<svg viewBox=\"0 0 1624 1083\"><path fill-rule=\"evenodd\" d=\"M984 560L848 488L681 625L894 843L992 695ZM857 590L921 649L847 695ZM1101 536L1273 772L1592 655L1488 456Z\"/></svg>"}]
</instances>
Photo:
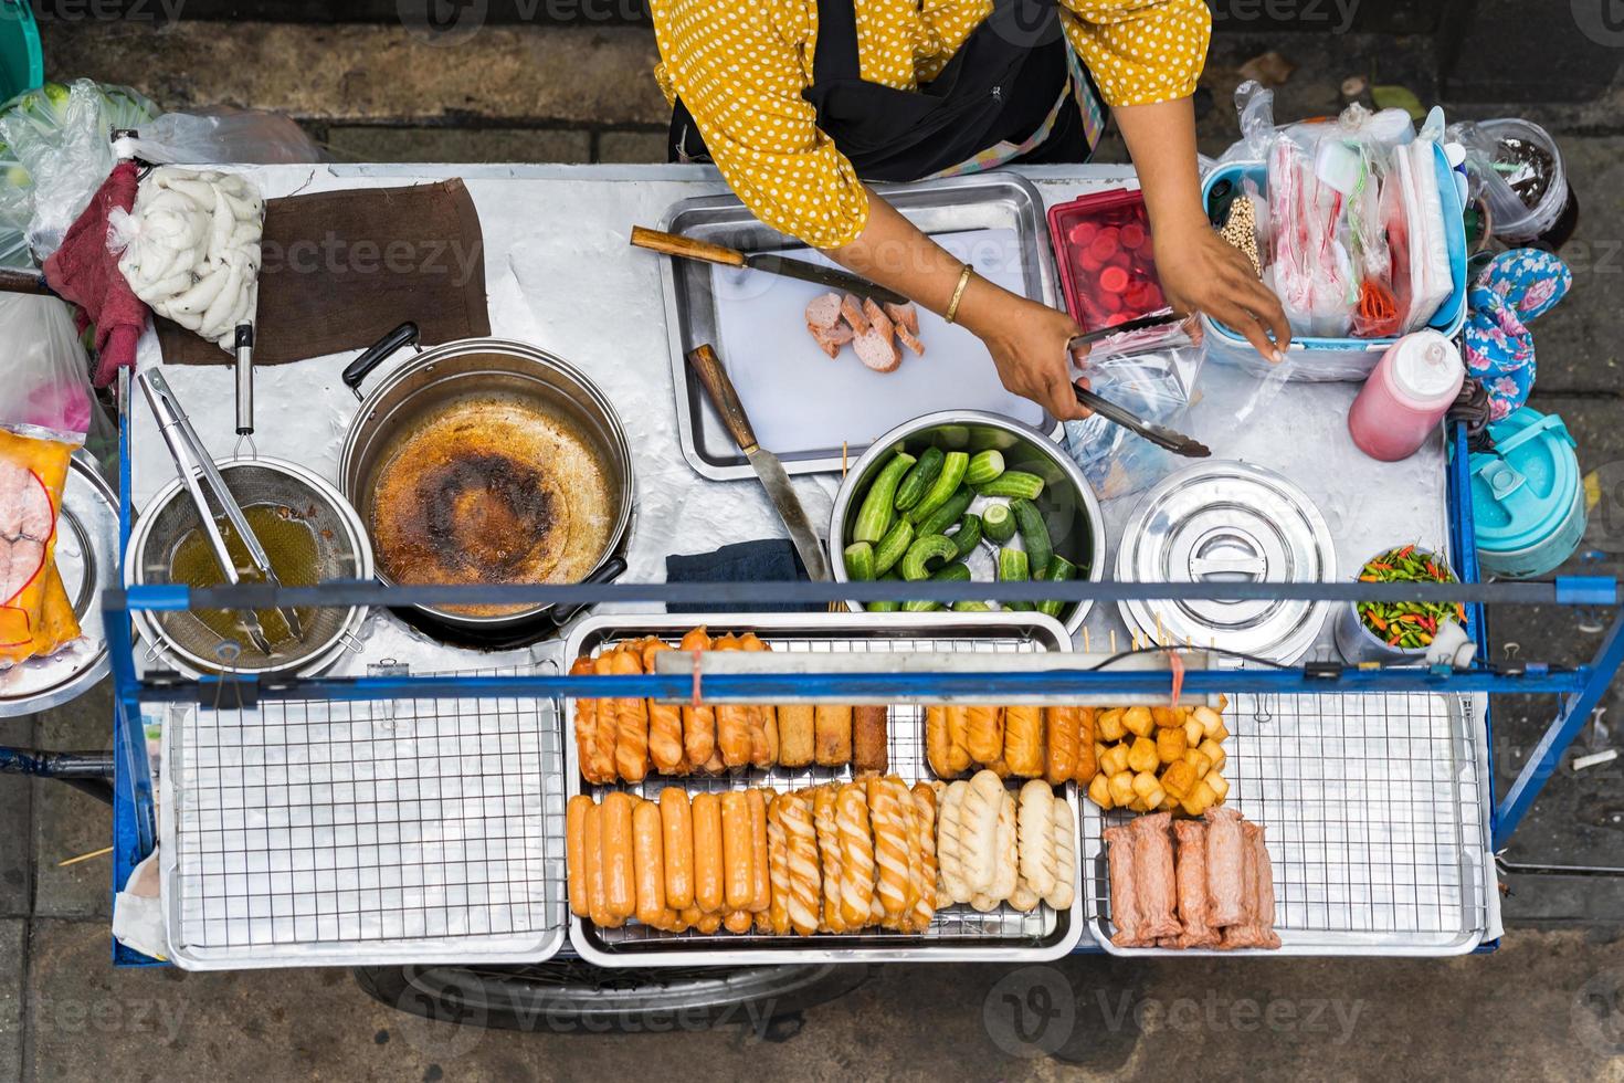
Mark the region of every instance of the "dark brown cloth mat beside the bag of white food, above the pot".
<instances>
[{"instance_id":1,"label":"dark brown cloth mat beside the bag of white food, above the pot","mask_svg":"<svg viewBox=\"0 0 1624 1083\"><path fill-rule=\"evenodd\" d=\"M487 336L484 248L461 180L266 200L253 360L362 349L404 320L424 344ZM218 344L156 323L166 362L231 364Z\"/></svg>"}]
</instances>

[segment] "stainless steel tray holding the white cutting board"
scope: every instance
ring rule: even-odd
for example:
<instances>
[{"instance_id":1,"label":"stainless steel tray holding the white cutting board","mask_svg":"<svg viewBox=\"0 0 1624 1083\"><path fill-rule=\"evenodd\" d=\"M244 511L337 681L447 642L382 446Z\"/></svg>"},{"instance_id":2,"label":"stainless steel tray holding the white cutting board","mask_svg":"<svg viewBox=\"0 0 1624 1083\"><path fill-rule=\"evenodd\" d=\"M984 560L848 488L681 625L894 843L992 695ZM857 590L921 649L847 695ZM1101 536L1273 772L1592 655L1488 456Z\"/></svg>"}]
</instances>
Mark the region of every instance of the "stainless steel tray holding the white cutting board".
<instances>
[{"instance_id":1,"label":"stainless steel tray holding the white cutting board","mask_svg":"<svg viewBox=\"0 0 1624 1083\"><path fill-rule=\"evenodd\" d=\"M877 185L875 190L927 234L1015 229L1021 260L1021 292L1046 305L1060 305L1043 196L1025 177L1000 170L911 185ZM731 195L680 200L666 211L659 227L744 252L801 247L794 239L763 226ZM711 292L711 268L693 260L663 258L659 281L666 297L666 334L671 341L671 377L677 396L682 456L700 476L711 481L752 477L749 460L739 453L705 398L705 390L684 364L687 351L718 339L719 320ZM1054 440L1062 435L1060 424L1047 414L1041 427L1049 430ZM853 458L862 451L862 447L846 448ZM781 451L780 458L791 474L835 472L841 468L840 445L804 453Z\"/></svg>"}]
</instances>

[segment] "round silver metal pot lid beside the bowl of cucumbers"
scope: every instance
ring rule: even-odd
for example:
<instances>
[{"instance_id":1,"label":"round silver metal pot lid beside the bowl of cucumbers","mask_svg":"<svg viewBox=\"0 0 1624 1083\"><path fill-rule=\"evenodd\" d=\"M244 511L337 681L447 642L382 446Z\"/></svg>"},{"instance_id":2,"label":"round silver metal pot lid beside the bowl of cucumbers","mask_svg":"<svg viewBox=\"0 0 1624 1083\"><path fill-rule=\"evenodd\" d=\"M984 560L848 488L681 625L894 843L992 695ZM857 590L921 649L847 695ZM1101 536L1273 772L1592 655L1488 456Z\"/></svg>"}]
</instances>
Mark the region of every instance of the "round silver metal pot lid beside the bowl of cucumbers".
<instances>
[{"instance_id":1,"label":"round silver metal pot lid beside the bowl of cucumbers","mask_svg":"<svg viewBox=\"0 0 1624 1083\"><path fill-rule=\"evenodd\" d=\"M1337 549L1307 494L1249 463L1200 463L1145 494L1117 547L1122 583L1328 583ZM1293 662L1319 636L1327 602L1124 601L1140 635Z\"/></svg>"}]
</instances>

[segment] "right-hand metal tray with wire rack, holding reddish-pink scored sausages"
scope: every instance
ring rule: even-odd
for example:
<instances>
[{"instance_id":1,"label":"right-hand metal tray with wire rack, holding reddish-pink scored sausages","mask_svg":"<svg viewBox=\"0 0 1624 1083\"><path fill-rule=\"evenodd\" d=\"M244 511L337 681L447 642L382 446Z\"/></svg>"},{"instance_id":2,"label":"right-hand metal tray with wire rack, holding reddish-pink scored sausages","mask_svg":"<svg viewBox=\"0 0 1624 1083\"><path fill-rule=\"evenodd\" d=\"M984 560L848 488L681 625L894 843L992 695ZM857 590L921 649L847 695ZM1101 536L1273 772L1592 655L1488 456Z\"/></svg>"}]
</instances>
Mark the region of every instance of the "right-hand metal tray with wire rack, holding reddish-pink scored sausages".
<instances>
[{"instance_id":1,"label":"right-hand metal tray with wire rack, holding reddish-pink scored sausages","mask_svg":"<svg viewBox=\"0 0 1624 1083\"><path fill-rule=\"evenodd\" d=\"M1083 805L1090 935L1112 955L1463 955L1488 929L1486 750L1465 697L1241 695L1226 804L1263 826L1276 951L1119 948L1101 831Z\"/></svg>"}]
</instances>

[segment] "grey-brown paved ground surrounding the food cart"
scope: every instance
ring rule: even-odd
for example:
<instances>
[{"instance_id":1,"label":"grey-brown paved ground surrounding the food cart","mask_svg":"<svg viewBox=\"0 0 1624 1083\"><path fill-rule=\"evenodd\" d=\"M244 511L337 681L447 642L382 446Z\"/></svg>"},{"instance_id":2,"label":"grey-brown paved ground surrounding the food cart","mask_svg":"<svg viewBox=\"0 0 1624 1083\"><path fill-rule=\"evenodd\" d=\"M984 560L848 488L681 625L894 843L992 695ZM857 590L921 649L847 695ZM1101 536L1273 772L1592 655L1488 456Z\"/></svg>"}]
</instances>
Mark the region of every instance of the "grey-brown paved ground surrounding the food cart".
<instances>
[{"instance_id":1,"label":"grey-brown paved ground surrounding the food cart","mask_svg":"<svg viewBox=\"0 0 1624 1083\"><path fill-rule=\"evenodd\" d=\"M1237 68L1270 47L1298 63L1278 93L1281 117L1333 112L1351 73L1434 97L1424 39L1226 34L1205 80L1203 151L1233 140ZM339 161L664 157L664 104L648 76L654 50L638 28L486 28L447 49L396 26L182 21L158 32L89 21L47 24L45 50L54 76L132 83L177 109L283 109ZM1460 110L1548 123L1580 193L1580 231L1566 250L1575 286L1536 326L1535 404L1562 414L1583 469L1605 482L1585 549L1611 573L1624 552L1621 101L1611 93L1580 106ZM1101 148L1106 161L1122 156L1121 141ZM1533 609L1499 620L1496 640L1517 643L1522 658L1566 659L1588 654L1600 636L1575 628L1566 612ZM1614 729L1624 724L1619 692L1608 700ZM1549 710L1501 705L1502 789ZM109 711L99 690L36 719L0 721L0 744L104 749ZM1618 744L1611 736L1587 742ZM1624 865L1621 778L1618 765L1559 771L1509 857ZM375 1003L344 971L115 971L106 859L60 865L106 846L107 820L106 805L60 784L0 781L0 1080L641 1078L656 1065L671 1080L1624 1078L1624 882L1616 878L1512 875L1501 950L1460 960L892 966L807 1012L788 1041L747 1028L468 1034ZM1039 992L1070 1003L1044 1031L1062 1038L1057 1055L1010 1055L1010 1005L1039 1003Z\"/></svg>"}]
</instances>

